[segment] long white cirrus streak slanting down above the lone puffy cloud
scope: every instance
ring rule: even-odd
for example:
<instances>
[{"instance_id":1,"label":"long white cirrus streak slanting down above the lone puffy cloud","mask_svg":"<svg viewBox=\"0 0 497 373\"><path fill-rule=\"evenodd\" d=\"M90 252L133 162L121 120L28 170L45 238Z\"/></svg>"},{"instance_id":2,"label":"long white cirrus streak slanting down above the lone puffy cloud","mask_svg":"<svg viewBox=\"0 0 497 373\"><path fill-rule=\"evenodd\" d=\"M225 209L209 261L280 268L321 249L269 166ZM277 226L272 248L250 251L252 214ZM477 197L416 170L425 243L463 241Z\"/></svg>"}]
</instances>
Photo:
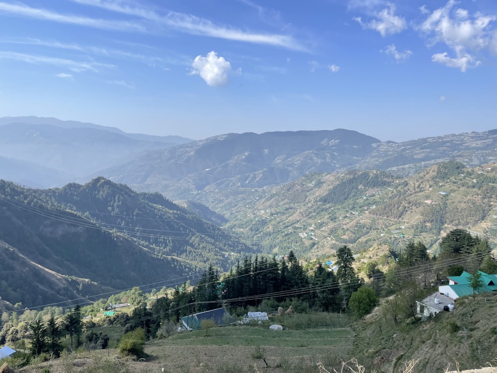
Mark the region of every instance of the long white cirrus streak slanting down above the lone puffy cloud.
<instances>
[{"instance_id":1,"label":"long white cirrus streak slanting down above the lone puffy cloud","mask_svg":"<svg viewBox=\"0 0 497 373\"><path fill-rule=\"evenodd\" d=\"M167 11L165 15L143 7L127 5L122 1L112 0L73 0L80 4L100 7L109 11L140 17L154 24L184 32L191 35L210 36L220 39L243 41L254 44L266 44L297 51L307 51L301 43L290 35L245 32L234 27L213 23L192 14Z\"/></svg>"}]
</instances>

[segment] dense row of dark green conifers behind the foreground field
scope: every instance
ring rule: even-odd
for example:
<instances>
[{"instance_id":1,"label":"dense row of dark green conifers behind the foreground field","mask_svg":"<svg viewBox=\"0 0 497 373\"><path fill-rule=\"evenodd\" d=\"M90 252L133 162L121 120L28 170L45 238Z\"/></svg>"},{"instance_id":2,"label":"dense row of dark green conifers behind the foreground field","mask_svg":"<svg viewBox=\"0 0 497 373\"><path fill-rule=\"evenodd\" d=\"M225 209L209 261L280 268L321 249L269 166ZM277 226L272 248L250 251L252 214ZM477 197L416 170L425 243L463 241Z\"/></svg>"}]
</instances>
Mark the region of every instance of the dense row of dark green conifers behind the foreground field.
<instances>
[{"instance_id":1,"label":"dense row of dark green conifers behind the foreground field","mask_svg":"<svg viewBox=\"0 0 497 373\"><path fill-rule=\"evenodd\" d=\"M171 295L158 296L149 307L144 302L129 317L119 316L114 322L125 326L127 332L141 328L148 339L156 337L169 322L178 322L181 316L222 305L236 311L261 302L269 302L276 308L278 304L291 302L305 309L342 312L364 282L352 267L354 257L347 246L338 250L337 258L336 275L319 262L306 272L292 251L280 261L274 257L246 257L222 278L209 267L195 286L176 287Z\"/></svg>"}]
</instances>

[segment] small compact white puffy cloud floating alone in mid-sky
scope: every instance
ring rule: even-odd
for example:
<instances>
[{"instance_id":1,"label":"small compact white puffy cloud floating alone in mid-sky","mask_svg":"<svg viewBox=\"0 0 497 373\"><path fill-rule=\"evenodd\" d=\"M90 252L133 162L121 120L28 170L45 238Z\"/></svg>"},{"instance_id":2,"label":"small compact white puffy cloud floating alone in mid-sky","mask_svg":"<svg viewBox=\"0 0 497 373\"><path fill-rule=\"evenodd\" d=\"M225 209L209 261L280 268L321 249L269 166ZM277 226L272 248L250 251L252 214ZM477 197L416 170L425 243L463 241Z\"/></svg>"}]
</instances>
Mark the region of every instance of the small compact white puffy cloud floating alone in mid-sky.
<instances>
[{"instance_id":1,"label":"small compact white puffy cloud floating alone in mid-sky","mask_svg":"<svg viewBox=\"0 0 497 373\"><path fill-rule=\"evenodd\" d=\"M193 69L190 75L200 75L209 86L218 87L228 83L231 64L224 57L218 57L214 51L207 53L205 57L197 56L191 66Z\"/></svg>"}]
</instances>

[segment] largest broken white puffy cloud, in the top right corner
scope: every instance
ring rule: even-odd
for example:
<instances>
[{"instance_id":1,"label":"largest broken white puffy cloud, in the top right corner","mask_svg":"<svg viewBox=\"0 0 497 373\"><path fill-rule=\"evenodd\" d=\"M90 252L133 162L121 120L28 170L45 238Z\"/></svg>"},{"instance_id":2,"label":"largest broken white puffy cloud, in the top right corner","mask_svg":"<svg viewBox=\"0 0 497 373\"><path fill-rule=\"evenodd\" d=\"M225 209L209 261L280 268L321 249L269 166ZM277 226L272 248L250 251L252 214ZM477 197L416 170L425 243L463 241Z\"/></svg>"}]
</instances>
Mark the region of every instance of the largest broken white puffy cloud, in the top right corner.
<instances>
[{"instance_id":1,"label":"largest broken white puffy cloud, in the top right corner","mask_svg":"<svg viewBox=\"0 0 497 373\"><path fill-rule=\"evenodd\" d=\"M464 72L481 64L476 54L497 49L497 33L492 27L497 17L481 12L470 14L466 9L456 8L457 3L449 0L445 6L428 12L424 22L415 28L427 38L428 45L443 43L453 52L453 56L448 52L435 53L432 61Z\"/></svg>"}]
</instances>

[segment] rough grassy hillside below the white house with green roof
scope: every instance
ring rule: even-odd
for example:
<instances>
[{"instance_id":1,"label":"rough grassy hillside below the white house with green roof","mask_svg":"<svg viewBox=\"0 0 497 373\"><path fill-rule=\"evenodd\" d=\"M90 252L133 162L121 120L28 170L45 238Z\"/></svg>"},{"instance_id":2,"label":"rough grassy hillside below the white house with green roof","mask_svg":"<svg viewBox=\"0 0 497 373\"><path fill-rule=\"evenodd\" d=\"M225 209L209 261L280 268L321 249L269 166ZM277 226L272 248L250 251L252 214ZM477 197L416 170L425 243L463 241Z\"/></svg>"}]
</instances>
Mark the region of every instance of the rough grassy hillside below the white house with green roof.
<instances>
[{"instance_id":1,"label":"rough grassy hillside below the white house with green roof","mask_svg":"<svg viewBox=\"0 0 497 373\"><path fill-rule=\"evenodd\" d=\"M485 367L497 358L497 294L458 299L453 312L442 312L431 321L396 326L382 316L381 307L354 327L352 355L378 372L397 372L404 363L419 359L414 372L444 372L446 368ZM458 331L451 332L454 323ZM383 333L380 333L380 325ZM398 334L397 334L398 333Z\"/></svg>"}]
</instances>

